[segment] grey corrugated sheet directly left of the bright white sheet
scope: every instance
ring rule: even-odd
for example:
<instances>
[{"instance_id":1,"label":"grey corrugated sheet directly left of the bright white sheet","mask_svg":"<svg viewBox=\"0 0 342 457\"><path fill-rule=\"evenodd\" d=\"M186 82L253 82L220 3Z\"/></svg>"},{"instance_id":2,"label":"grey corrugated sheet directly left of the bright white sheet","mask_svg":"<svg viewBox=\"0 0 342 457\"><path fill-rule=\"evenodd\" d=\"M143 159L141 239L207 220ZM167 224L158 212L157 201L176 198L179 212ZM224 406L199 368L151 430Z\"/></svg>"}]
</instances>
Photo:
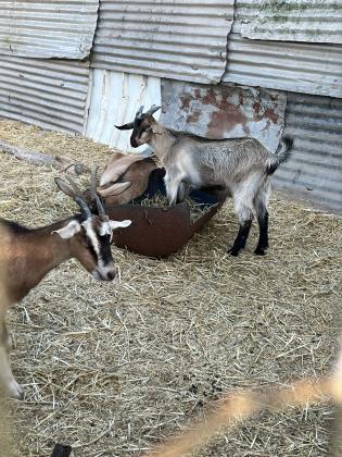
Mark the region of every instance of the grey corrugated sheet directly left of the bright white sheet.
<instances>
[{"instance_id":1,"label":"grey corrugated sheet directly left of the bright white sheet","mask_svg":"<svg viewBox=\"0 0 342 457\"><path fill-rule=\"evenodd\" d=\"M88 84L89 63L0 54L0 116L83 133Z\"/></svg>"}]
</instances>

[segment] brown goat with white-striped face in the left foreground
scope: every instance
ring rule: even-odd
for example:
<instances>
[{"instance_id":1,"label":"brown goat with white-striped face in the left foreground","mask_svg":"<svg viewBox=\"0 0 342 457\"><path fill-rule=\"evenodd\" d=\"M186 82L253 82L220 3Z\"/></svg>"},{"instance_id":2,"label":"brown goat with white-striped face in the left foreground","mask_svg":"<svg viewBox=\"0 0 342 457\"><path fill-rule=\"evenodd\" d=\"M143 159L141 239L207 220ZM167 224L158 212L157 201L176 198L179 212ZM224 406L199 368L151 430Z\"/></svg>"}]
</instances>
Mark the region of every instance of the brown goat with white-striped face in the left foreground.
<instances>
[{"instance_id":1,"label":"brown goat with white-striped face in the left foreground","mask_svg":"<svg viewBox=\"0 0 342 457\"><path fill-rule=\"evenodd\" d=\"M72 197L80 213L51 225L29 230L0 219L0 277L4 297L0 304L0 381L9 395L23 397L9 362L11 338L5 326L7 309L24 298L46 274L60 263L76 258L97 280L112 281L116 269L111 251L112 232L131 221L111 221L96 193L94 173L91 193L97 211L91 212L77 185L55 178L60 189ZM2 308L1 308L2 306Z\"/></svg>"}]
</instances>

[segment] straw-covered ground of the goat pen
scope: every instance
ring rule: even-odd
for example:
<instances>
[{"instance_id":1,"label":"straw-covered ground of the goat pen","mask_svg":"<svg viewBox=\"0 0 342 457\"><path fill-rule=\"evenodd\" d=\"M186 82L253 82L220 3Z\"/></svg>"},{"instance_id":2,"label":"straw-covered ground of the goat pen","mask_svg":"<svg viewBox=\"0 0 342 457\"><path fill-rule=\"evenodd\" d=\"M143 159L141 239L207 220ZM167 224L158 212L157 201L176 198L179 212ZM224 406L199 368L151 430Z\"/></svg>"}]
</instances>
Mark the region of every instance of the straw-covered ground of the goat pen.
<instances>
[{"instance_id":1,"label":"straw-covered ground of the goat pen","mask_svg":"<svg viewBox=\"0 0 342 457\"><path fill-rule=\"evenodd\" d=\"M0 138L101 166L111 149L0 121ZM1 217L28 226L76 210L55 170L1 155ZM86 177L87 178L87 177ZM85 182L85 177L83 177ZM331 371L340 330L342 220L270 203L270 248L255 257L256 228L226 255L231 201L179 254L152 260L114 248L121 283L93 280L76 261L51 272L9 314L15 455L136 456L181 430L223 393L283 386ZM141 234L143 236L143 233ZM322 456L332 405L266 411L223 430L199 456Z\"/></svg>"}]
</instances>

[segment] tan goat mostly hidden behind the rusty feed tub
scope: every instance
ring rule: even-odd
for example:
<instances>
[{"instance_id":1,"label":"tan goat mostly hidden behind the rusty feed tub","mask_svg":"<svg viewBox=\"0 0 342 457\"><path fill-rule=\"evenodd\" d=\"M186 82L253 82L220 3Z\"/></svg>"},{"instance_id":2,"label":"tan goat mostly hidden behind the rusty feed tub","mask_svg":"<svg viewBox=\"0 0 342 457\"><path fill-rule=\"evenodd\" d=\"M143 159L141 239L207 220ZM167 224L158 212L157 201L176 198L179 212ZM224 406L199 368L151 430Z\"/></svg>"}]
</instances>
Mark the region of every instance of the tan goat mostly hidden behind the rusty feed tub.
<instances>
[{"instance_id":1,"label":"tan goat mostly hidden behind the rusty feed tub","mask_svg":"<svg viewBox=\"0 0 342 457\"><path fill-rule=\"evenodd\" d=\"M102 173L97 192L106 205L128 203L145 192L155 169L150 158L115 152Z\"/></svg>"}]
</instances>

